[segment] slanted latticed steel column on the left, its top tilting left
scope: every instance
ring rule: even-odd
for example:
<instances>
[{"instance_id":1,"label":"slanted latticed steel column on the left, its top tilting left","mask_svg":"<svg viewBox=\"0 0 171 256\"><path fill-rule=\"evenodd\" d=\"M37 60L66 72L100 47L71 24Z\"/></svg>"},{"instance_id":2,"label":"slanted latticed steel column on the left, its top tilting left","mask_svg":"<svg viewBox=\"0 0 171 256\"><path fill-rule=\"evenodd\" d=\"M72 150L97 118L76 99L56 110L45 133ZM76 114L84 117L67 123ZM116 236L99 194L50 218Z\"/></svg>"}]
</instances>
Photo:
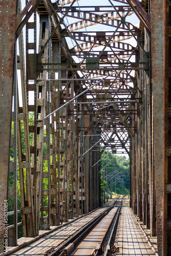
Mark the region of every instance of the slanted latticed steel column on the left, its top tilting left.
<instances>
[{"instance_id":1,"label":"slanted latticed steel column on the left, its top tilting left","mask_svg":"<svg viewBox=\"0 0 171 256\"><path fill-rule=\"evenodd\" d=\"M23 235L24 237L33 237L33 196L32 196L32 181L31 181L31 161L30 161L30 140L29 140L29 115L28 115L28 95L25 78L25 58L24 58L24 43L23 43L23 31L19 34L19 55L17 59L17 69L20 70L20 76L18 79L21 81L22 89L22 102L23 107L18 105L18 129L17 129L17 147L18 147L18 169L19 169L19 184L20 184L20 199L22 206L22 220L23 220ZM18 103L19 104L19 103ZM22 148L22 134L21 129L24 126L24 141L25 152ZM26 170L26 173L24 172ZM25 174L24 174L25 173ZM26 175L26 176L25 176ZM24 180L27 180L25 184ZM28 201L26 200L26 195ZM28 214L25 208L30 208Z\"/></svg>"}]
</instances>

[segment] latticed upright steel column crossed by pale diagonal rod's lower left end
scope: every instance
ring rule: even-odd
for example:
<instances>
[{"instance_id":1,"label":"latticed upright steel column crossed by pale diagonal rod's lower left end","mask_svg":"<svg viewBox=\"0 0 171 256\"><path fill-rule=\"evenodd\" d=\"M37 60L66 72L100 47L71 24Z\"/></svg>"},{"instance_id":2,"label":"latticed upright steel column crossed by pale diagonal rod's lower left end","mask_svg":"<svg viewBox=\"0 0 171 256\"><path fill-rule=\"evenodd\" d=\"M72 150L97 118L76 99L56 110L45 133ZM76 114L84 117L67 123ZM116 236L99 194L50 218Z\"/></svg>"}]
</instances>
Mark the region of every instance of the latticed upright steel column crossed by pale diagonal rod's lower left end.
<instances>
[{"instance_id":1,"label":"latticed upright steel column crossed by pale diagonal rod's lower left end","mask_svg":"<svg viewBox=\"0 0 171 256\"><path fill-rule=\"evenodd\" d=\"M40 15L39 17L39 52L41 51L42 46L44 46L45 41L49 37L50 27L49 27L49 17L48 15ZM41 62L48 62L48 45L44 49L41 54ZM39 66L39 65L38 65ZM40 73L39 78L46 79L47 72L43 71ZM42 120L44 118L44 114L48 114L50 112L50 84L49 82L38 82L37 83L37 118ZM48 95L48 102L47 97ZM50 179L50 134L47 136L44 135L44 124L46 124L46 132L50 133L50 121L49 119L42 121L39 125L40 127L37 129L37 151L38 151L38 163L37 163L37 223L39 223L39 212L40 212L40 202L41 202L41 229L49 230L50 229L50 205L49 205L49 182L46 183L45 179ZM45 146L46 145L46 148ZM47 163L47 164L45 164ZM48 166L47 172L45 172L45 166ZM47 187L45 187L45 183ZM44 205L44 199L48 196L48 205ZM44 207L48 207L44 208ZM48 211L48 214L44 213ZM39 230L39 224L37 226L37 232Z\"/></svg>"}]
</instances>

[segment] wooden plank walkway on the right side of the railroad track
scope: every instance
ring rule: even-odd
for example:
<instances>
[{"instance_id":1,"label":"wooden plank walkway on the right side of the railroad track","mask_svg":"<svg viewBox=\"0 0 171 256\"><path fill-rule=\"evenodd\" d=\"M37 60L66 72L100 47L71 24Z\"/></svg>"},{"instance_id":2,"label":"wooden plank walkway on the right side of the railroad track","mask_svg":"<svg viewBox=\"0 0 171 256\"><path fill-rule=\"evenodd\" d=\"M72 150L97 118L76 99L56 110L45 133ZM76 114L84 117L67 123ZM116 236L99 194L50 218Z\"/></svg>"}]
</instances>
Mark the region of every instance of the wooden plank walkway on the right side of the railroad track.
<instances>
[{"instance_id":1,"label":"wooden plank walkway on the right side of the railroad track","mask_svg":"<svg viewBox=\"0 0 171 256\"><path fill-rule=\"evenodd\" d=\"M155 253L148 245L130 207L123 207L118 225L117 256L154 256Z\"/></svg>"}]
</instances>

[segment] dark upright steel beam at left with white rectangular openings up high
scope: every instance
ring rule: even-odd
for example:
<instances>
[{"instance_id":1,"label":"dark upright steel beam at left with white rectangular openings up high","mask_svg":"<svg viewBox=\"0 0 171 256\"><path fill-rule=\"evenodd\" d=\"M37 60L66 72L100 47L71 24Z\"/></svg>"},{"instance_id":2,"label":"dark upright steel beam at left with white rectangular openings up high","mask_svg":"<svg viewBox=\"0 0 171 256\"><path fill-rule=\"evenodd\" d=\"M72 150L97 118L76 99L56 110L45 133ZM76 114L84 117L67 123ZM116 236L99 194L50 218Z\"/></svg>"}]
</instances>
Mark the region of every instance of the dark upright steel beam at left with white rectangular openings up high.
<instances>
[{"instance_id":1,"label":"dark upright steel beam at left with white rectangular openings up high","mask_svg":"<svg viewBox=\"0 0 171 256\"><path fill-rule=\"evenodd\" d=\"M29 29L33 29L33 42L29 40ZM33 53L30 53L30 49L33 49ZM33 22L28 22L26 24L26 84L27 84L27 104L28 111L33 112L33 122L32 122L32 145L30 146L31 156L31 168L32 168L32 178L31 181L31 194L26 194L26 201L30 201L30 197L33 196L34 209L29 204L26 208L26 214L28 216L27 221L27 236L35 237L38 235L38 223L37 223L37 87L36 87L36 12L33 13ZM33 92L34 95L34 105L29 102L29 93ZM29 223L30 221L30 223ZM33 228L32 228L33 227Z\"/></svg>"}]
</instances>

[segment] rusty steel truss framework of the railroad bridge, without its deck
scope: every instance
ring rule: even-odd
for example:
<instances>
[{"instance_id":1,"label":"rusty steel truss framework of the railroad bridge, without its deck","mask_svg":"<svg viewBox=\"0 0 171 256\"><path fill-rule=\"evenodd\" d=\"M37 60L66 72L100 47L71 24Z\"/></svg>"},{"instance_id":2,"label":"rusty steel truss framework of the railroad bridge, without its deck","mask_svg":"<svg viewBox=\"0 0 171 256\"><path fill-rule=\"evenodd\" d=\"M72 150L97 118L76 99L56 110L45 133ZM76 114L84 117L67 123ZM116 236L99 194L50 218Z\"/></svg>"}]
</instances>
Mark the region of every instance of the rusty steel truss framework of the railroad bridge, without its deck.
<instances>
[{"instance_id":1,"label":"rusty steel truss framework of the railroad bridge, without its deck","mask_svg":"<svg viewBox=\"0 0 171 256\"><path fill-rule=\"evenodd\" d=\"M21 226L26 242L101 207L110 152L129 157L130 207L171 255L170 1L0 3L0 252L7 230L15 247Z\"/></svg>"}]
</instances>

